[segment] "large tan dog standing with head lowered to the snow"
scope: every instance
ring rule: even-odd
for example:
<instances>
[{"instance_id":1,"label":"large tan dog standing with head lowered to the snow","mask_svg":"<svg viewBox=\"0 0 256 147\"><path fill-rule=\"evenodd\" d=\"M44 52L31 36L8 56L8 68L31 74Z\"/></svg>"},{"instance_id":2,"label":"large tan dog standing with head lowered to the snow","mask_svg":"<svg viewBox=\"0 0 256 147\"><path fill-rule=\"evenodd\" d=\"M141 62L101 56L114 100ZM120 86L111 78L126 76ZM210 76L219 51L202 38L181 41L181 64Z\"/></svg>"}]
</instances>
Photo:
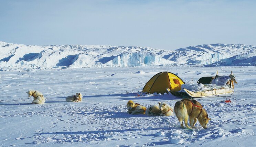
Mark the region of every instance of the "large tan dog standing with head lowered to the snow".
<instances>
[{"instance_id":1,"label":"large tan dog standing with head lowered to the snow","mask_svg":"<svg viewBox=\"0 0 256 147\"><path fill-rule=\"evenodd\" d=\"M203 106L195 101L194 99L182 99L175 103L174 112L180 122L181 128L185 128L183 125L183 120L186 128L195 128L195 123L198 120L204 129L207 128L207 123L210 118L208 118L207 112L203 109ZM188 126L188 117L190 126ZM194 122L193 122L194 121Z\"/></svg>"}]
</instances>

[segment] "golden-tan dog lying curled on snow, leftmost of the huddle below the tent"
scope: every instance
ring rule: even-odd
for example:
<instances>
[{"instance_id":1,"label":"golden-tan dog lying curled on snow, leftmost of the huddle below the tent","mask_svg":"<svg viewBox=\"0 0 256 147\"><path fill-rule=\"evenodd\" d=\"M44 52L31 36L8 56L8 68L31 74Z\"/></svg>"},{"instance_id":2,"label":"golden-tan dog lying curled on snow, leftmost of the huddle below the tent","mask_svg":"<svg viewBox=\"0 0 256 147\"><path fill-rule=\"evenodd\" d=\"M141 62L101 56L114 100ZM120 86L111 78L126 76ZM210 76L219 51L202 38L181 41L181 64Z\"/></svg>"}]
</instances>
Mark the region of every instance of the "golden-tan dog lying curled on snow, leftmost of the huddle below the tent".
<instances>
[{"instance_id":1,"label":"golden-tan dog lying curled on snow, leftmost of the huddle below the tent","mask_svg":"<svg viewBox=\"0 0 256 147\"><path fill-rule=\"evenodd\" d=\"M146 107L141 106L138 103L134 103L131 100L126 104L128 114L145 114Z\"/></svg>"}]
</instances>

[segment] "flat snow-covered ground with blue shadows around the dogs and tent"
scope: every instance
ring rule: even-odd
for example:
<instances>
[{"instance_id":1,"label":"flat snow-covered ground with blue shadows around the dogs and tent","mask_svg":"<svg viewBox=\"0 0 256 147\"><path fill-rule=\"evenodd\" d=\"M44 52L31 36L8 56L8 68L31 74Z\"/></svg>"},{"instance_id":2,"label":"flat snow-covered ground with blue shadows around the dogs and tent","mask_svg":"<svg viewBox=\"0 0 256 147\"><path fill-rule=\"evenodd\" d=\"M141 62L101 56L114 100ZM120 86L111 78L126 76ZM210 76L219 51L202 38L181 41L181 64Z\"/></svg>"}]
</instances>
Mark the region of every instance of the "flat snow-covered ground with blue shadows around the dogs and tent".
<instances>
[{"instance_id":1,"label":"flat snow-covered ground with blue shadows around the dogs and tent","mask_svg":"<svg viewBox=\"0 0 256 147\"><path fill-rule=\"evenodd\" d=\"M143 83L158 72L177 73L188 82L204 75L215 76L216 70L223 75L230 75L232 70L238 84L232 95L196 98L211 118L207 129L199 122L192 131L181 129L175 115L148 117L126 113L129 100L146 107L158 102L173 107L180 100L168 94L126 94L141 91ZM0 146L255 146L255 78L255 66L1 71ZM32 105L33 98L26 94L29 89L41 91L45 104ZM65 101L66 96L78 92L83 94L82 102ZM226 98L232 103L224 103Z\"/></svg>"}]
</instances>

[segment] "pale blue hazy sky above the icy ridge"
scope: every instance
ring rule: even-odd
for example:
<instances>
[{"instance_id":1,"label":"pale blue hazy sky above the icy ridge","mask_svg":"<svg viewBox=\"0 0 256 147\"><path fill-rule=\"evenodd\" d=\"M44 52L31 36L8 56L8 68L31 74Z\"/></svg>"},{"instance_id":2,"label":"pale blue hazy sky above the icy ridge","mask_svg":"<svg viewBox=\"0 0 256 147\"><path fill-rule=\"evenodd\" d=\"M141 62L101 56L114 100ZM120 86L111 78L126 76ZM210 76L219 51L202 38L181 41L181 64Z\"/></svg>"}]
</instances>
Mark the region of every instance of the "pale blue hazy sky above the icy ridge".
<instances>
[{"instance_id":1,"label":"pale blue hazy sky above the icy ridge","mask_svg":"<svg viewBox=\"0 0 256 147\"><path fill-rule=\"evenodd\" d=\"M256 45L256 1L0 0L0 41L26 45Z\"/></svg>"}]
</instances>

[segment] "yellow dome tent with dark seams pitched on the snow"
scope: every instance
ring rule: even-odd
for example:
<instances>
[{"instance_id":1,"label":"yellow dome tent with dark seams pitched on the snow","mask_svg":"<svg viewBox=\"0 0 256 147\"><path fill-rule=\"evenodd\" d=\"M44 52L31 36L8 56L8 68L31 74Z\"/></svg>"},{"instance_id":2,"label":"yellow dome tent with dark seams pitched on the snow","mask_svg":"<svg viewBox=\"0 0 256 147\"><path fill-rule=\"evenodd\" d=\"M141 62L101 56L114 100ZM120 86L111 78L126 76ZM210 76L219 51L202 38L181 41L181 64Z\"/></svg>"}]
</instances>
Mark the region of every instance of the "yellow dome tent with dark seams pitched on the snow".
<instances>
[{"instance_id":1,"label":"yellow dome tent with dark seams pitched on the snow","mask_svg":"<svg viewBox=\"0 0 256 147\"><path fill-rule=\"evenodd\" d=\"M181 90L181 85L184 82L175 74L164 71L154 75L144 86L142 92L145 93L167 93L167 88L171 92L177 92Z\"/></svg>"}]
</instances>

